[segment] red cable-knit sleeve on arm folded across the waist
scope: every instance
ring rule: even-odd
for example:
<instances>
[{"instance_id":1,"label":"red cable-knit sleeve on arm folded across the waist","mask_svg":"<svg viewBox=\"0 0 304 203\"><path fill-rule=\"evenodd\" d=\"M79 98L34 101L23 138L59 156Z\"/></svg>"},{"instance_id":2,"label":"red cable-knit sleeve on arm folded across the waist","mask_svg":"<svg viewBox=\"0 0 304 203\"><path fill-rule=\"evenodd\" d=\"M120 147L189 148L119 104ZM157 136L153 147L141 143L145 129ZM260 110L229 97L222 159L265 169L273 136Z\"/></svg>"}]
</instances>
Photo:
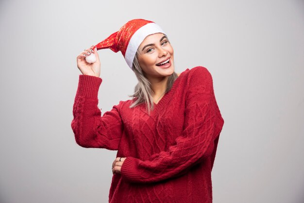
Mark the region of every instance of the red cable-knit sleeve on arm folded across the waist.
<instances>
[{"instance_id":1,"label":"red cable-knit sleeve on arm folded across the waist","mask_svg":"<svg viewBox=\"0 0 304 203\"><path fill-rule=\"evenodd\" d=\"M214 148L221 126L216 127L215 123L216 101L213 97L213 82L209 71L203 67L197 68L190 77L186 91L182 135L175 139L176 144L170 146L169 151L155 153L148 160L127 157L121 167L122 178L126 181L162 181L184 174L191 166L212 154L215 155Z\"/></svg>"}]
</instances>

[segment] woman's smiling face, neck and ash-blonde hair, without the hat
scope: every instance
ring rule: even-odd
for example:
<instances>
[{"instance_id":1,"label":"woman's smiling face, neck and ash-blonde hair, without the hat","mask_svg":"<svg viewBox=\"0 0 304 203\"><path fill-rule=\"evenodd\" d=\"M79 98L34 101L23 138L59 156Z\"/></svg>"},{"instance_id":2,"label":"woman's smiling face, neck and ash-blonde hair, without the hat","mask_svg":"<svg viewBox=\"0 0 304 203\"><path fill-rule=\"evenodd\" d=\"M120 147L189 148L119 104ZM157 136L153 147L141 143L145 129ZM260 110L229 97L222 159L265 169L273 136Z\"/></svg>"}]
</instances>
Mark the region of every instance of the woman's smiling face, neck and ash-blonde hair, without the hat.
<instances>
[{"instance_id":1,"label":"woman's smiling face, neck and ash-blonde hair, without the hat","mask_svg":"<svg viewBox=\"0 0 304 203\"><path fill-rule=\"evenodd\" d=\"M164 57L166 58L164 59ZM164 64L164 62L166 63ZM135 86L135 93L132 97L138 99L130 107L135 107L146 101L146 108L150 113L154 104L157 104L163 95L170 90L178 77L174 72L173 48L167 35L160 33L148 35L136 51L133 67L138 85ZM157 83L159 78L165 78L163 83L167 83L165 84L166 88L162 89L162 93L155 89L152 90L153 86L151 86L151 84ZM156 93L153 94L153 92Z\"/></svg>"}]
</instances>

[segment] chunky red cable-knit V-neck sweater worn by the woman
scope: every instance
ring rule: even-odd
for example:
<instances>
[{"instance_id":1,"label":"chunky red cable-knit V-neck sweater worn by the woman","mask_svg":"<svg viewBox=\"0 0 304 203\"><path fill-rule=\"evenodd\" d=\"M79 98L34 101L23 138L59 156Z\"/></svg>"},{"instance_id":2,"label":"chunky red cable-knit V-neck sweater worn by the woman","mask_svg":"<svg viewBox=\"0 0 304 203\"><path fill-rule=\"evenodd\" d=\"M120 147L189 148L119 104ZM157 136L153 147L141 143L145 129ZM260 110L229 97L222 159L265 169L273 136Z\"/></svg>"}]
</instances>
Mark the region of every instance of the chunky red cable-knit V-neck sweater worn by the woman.
<instances>
[{"instance_id":1,"label":"chunky red cable-knit V-neck sweater worn by the woman","mask_svg":"<svg viewBox=\"0 0 304 203\"><path fill-rule=\"evenodd\" d=\"M129 108L128 100L101 116L101 81L79 76L71 126L80 146L127 157L121 174L112 177L109 202L211 203L211 170L224 120L209 71L187 68L150 115L144 103Z\"/></svg>"}]
</instances>

